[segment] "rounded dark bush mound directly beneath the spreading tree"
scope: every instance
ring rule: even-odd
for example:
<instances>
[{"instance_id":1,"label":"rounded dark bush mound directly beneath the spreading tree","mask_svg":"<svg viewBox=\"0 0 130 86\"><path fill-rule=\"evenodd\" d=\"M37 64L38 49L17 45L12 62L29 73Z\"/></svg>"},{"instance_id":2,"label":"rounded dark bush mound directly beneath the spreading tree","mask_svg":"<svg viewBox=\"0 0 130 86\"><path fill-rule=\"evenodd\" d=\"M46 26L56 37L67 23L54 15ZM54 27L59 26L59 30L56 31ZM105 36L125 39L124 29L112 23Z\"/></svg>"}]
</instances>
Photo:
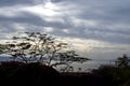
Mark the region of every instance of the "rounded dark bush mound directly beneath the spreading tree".
<instances>
[{"instance_id":1,"label":"rounded dark bush mound directly beneath the spreading tree","mask_svg":"<svg viewBox=\"0 0 130 86\"><path fill-rule=\"evenodd\" d=\"M43 86L43 85L55 85L60 81L60 74L53 68L48 66L42 66L38 62L36 63L27 63L21 67L17 72L12 76L14 81L13 83L25 85L35 85L35 86ZM17 78L20 78L17 81ZM58 84L58 83L57 83Z\"/></svg>"}]
</instances>

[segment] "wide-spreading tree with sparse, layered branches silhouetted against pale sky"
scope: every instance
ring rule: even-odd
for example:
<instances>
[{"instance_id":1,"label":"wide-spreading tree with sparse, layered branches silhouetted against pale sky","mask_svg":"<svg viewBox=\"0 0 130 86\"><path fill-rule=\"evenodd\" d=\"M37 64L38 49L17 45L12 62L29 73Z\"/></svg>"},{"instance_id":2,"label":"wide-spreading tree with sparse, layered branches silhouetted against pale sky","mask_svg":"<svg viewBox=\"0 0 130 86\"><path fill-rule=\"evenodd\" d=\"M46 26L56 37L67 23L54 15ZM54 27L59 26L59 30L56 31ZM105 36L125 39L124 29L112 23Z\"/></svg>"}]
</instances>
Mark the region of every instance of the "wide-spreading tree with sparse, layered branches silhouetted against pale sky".
<instances>
[{"instance_id":1,"label":"wide-spreading tree with sparse, layered branches silhouetted against pale sky","mask_svg":"<svg viewBox=\"0 0 130 86\"><path fill-rule=\"evenodd\" d=\"M0 54L10 55L26 63L42 62L47 66L90 60L69 51L67 43L57 42L53 37L40 32L25 32L23 37L13 37L13 42L0 45ZM52 63L52 60L55 62Z\"/></svg>"}]
</instances>

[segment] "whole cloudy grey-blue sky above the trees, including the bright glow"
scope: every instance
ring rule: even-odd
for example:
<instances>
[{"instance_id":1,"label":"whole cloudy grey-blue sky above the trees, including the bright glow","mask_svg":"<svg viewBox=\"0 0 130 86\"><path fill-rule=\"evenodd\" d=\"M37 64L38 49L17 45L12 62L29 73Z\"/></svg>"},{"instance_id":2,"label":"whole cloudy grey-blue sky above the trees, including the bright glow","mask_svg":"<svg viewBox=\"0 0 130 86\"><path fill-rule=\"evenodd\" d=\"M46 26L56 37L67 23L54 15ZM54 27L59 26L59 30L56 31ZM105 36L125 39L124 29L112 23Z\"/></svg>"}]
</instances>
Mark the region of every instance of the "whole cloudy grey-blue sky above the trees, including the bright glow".
<instances>
[{"instance_id":1,"label":"whole cloudy grey-blue sky above the trees, including the bright glow","mask_svg":"<svg viewBox=\"0 0 130 86\"><path fill-rule=\"evenodd\" d=\"M0 39L37 31L62 38L78 54L130 54L130 0L0 0Z\"/></svg>"}]
</instances>

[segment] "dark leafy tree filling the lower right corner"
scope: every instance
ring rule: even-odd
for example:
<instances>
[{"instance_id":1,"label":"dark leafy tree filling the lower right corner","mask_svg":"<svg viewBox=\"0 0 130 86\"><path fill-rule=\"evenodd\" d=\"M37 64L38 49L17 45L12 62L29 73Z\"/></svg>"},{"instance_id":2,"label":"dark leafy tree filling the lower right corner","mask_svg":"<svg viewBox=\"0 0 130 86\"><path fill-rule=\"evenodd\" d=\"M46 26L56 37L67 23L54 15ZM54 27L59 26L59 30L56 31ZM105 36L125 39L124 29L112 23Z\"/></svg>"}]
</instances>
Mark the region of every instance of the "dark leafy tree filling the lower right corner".
<instances>
[{"instance_id":1,"label":"dark leafy tree filling the lower right corner","mask_svg":"<svg viewBox=\"0 0 130 86\"><path fill-rule=\"evenodd\" d=\"M92 74L100 74L112 82L113 86L130 86L130 59L123 54L118 57L115 64L102 64L92 70ZM112 86L109 85L109 86Z\"/></svg>"}]
</instances>

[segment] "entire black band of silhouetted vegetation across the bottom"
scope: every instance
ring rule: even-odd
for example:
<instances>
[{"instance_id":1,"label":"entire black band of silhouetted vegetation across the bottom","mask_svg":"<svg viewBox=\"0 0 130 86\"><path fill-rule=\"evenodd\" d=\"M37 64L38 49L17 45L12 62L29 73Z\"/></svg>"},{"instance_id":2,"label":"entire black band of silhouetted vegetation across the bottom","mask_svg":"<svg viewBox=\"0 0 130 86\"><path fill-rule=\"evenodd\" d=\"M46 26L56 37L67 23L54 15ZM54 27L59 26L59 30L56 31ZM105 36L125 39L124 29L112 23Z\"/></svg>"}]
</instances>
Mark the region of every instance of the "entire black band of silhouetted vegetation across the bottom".
<instances>
[{"instance_id":1,"label":"entire black band of silhouetted vegetation across the bottom","mask_svg":"<svg viewBox=\"0 0 130 86\"><path fill-rule=\"evenodd\" d=\"M57 72L40 62L3 61L0 82L4 86L130 86L129 61L123 55L115 64L103 64L91 72Z\"/></svg>"}]
</instances>

